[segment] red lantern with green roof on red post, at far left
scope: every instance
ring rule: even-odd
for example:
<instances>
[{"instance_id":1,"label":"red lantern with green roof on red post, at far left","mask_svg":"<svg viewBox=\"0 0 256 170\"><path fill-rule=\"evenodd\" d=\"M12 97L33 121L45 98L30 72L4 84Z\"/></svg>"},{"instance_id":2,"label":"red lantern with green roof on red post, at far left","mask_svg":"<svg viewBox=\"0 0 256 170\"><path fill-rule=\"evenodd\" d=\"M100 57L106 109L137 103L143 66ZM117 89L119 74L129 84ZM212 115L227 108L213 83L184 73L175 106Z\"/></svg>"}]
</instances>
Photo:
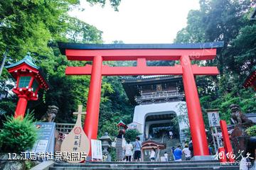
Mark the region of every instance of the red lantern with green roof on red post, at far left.
<instances>
[{"instance_id":1,"label":"red lantern with green roof on red post, at far left","mask_svg":"<svg viewBox=\"0 0 256 170\"><path fill-rule=\"evenodd\" d=\"M48 90L48 82L29 52L22 60L6 66L6 69L16 79L16 86L12 90L18 96L14 118L23 119L28 101L38 100L38 91Z\"/></svg>"}]
</instances>

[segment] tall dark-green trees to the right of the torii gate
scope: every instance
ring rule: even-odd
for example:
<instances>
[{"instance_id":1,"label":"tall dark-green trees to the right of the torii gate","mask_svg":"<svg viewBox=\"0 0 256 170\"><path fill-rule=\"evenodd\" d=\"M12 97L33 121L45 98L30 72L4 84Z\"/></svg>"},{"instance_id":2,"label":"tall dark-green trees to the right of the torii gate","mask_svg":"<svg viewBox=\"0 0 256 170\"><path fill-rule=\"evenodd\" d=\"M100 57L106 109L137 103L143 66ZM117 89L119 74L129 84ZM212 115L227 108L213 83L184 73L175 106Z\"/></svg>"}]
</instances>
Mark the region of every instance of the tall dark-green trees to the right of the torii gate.
<instances>
[{"instance_id":1,"label":"tall dark-green trees to the right of the torii gate","mask_svg":"<svg viewBox=\"0 0 256 170\"><path fill-rule=\"evenodd\" d=\"M215 60L199 63L217 66L220 75L196 77L196 81L203 109L220 108L221 118L228 122L232 103L239 104L244 113L256 111L255 91L242 87L256 64L256 24L249 19L255 3L250 0L201 0L200 9L188 13L186 28L176 35L176 42L224 41Z\"/></svg>"}]
</instances>

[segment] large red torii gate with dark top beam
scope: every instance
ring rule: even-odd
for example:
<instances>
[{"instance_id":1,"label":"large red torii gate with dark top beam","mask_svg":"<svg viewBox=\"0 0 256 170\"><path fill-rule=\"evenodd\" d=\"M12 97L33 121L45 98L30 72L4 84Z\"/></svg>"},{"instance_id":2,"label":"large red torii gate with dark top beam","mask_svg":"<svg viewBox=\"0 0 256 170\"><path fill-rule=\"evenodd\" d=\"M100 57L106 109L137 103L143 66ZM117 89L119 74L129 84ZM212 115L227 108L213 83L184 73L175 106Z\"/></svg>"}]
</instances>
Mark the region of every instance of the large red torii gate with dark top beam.
<instances>
[{"instance_id":1,"label":"large red torii gate with dark top beam","mask_svg":"<svg viewBox=\"0 0 256 170\"><path fill-rule=\"evenodd\" d=\"M217 75L217 67L198 67L191 60L213 60L223 42L196 44L77 44L58 42L60 52L68 60L92 61L84 67L67 67L66 75L91 75L85 118L85 134L97 139L102 76L182 75L191 128L193 151L196 156L208 155L205 125L194 76ZM109 67L103 61L137 60L136 67ZM149 67L147 60L179 60L174 67Z\"/></svg>"}]
</instances>

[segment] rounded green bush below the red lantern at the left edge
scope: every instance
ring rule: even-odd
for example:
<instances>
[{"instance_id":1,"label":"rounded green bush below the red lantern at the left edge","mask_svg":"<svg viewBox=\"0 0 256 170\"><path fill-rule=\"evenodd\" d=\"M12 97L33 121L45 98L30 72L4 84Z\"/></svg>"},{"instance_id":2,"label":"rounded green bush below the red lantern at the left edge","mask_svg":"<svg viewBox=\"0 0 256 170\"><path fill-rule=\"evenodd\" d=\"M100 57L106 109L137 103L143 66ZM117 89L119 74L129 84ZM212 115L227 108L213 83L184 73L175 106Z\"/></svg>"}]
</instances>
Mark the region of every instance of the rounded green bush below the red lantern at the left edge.
<instances>
[{"instance_id":1,"label":"rounded green bush below the red lantern at the left edge","mask_svg":"<svg viewBox=\"0 0 256 170\"><path fill-rule=\"evenodd\" d=\"M36 142L36 127L33 116L27 114L23 120L6 117L0 132L1 152L20 153L32 149Z\"/></svg>"}]
</instances>

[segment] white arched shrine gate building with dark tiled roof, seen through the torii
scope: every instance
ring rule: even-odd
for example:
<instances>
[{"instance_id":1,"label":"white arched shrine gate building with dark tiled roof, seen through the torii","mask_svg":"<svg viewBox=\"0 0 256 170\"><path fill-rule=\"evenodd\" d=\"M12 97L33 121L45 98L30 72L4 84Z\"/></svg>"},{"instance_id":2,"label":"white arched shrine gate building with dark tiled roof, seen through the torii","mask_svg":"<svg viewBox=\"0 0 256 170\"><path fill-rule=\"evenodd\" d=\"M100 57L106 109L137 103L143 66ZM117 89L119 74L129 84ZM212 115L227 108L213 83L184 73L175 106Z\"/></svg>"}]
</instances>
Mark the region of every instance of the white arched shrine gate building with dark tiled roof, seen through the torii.
<instances>
[{"instance_id":1,"label":"white arched shrine gate building with dark tiled roof, seen through the torii","mask_svg":"<svg viewBox=\"0 0 256 170\"><path fill-rule=\"evenodd\" d=\"M122 77L121 81L130 103L135 105L129 129L139 130L143 140L171 131L174 138L185 142L188 119L181 76ZM181 120L181 116L186 119Z\"/></svg>"}]
</instances>

